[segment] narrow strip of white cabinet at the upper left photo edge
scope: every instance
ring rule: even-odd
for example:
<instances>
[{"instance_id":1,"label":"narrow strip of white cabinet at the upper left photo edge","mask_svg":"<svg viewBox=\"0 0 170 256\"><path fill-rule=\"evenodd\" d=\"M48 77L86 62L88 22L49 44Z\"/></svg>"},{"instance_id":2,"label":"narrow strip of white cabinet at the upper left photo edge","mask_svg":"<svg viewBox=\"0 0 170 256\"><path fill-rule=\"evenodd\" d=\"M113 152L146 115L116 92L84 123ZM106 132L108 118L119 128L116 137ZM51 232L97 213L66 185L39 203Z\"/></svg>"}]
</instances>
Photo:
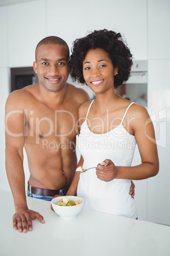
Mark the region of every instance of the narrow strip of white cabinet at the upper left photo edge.
<instances>
[{"instance_id":1,"label":"narrow strip of white cabinet at the upper left photo edge","mask_svg":"<svg viewBox=\"0 0 170 256\"><path fill-rule=\"evenodd\" d=\"M8 41L7 41L7 27L6 27L6 7L0 8L0 31L1 31L0 67L7 67L8 66L8 50L7 50Z\"/></svg>"}]
</instances>

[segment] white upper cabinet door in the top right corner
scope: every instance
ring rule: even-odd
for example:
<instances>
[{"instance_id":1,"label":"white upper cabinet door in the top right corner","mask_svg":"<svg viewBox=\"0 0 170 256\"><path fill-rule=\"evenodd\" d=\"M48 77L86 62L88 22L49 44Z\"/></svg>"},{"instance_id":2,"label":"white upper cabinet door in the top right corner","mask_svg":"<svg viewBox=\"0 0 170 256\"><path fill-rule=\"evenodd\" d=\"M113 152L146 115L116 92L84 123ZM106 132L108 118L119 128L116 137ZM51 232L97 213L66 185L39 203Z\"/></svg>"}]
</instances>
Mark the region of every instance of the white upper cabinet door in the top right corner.
<instances>
[{"instance_id":1,"label":"white upper cabinet door in the top right corner","mask_svg":"<svg viewBox=\"0 0 170 256\"><path fill-rule=\"evenodd\" d=\"M170 58L169 13L169 0L148 0L148 59Z\"/></svg>"}]
</instances>

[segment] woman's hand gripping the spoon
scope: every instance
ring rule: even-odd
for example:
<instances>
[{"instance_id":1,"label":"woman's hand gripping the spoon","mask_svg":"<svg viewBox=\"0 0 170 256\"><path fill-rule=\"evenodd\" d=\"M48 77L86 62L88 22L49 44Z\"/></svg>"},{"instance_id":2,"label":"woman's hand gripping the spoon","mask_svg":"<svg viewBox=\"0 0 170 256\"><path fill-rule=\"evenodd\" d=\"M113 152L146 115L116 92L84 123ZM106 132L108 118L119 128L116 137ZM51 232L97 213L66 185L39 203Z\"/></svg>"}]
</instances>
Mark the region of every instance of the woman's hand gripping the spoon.
<instances>
[{"instance_id":1,"label":"woman's hand gripping the spoon","mask_svg":"<svg viewBox=\"0 0 170 256\"><path fill-rule=\"evenodd\" d=\"M110 159L105 159L101 164L98 164L96 168L96 175L100 180L111 181L117 176L117 168Z\"/></svg>"}]
</instances>

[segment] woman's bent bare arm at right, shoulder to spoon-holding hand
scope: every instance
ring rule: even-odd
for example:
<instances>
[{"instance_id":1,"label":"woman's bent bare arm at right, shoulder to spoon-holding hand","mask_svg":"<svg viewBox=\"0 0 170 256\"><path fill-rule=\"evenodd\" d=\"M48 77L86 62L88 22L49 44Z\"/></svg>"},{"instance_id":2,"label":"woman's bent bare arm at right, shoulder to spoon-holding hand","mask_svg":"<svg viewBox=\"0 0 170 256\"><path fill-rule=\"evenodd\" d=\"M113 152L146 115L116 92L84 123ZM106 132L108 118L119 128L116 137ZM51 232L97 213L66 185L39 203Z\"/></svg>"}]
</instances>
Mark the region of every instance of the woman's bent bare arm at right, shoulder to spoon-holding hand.
<instances>
[{"instance_id":1,"label":"woman's bent bare arm at right, shoulder to spoon-holding hand","mask_svg":"<svg viewBox=\"0 0 170 256\"><path fill-rule=\"evenodd\" d=\"M138 166L115 166L115 164L105 159L102 164L98 164L96 174L100 180L110 181L117 179L143 180L157 175L159 172L159 158L155 141L154 125L145 108L134 105L131 106L131 131L134 132L138 144L141 164ZM130 110L130 109L129 109ZM104 166L104 164L108 164Z\"/></svg>"}]
</instances>

